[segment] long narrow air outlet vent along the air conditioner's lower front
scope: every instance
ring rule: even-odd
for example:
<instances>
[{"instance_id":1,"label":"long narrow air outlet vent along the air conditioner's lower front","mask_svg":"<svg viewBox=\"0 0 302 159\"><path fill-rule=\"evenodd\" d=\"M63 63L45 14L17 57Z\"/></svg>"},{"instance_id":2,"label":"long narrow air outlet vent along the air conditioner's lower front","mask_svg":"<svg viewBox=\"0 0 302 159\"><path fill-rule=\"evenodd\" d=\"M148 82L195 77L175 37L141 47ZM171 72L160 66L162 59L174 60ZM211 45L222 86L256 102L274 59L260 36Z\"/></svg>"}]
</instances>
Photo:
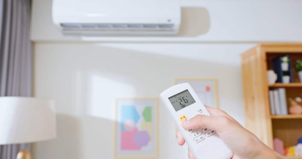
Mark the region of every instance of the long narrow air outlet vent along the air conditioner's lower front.
<instances>
[{"instance_id":1,"label":"long narrow air outlet vent along the air conditioner's lower front","mask_svg":"<svg viewBox=\"0 0 302 159\"><path fill-rule=\"evenodd\" d=\"M61 23L63 30L156 30L156 31L173 31L174 24L74 24Z\"/></svg>"}]
</instances>

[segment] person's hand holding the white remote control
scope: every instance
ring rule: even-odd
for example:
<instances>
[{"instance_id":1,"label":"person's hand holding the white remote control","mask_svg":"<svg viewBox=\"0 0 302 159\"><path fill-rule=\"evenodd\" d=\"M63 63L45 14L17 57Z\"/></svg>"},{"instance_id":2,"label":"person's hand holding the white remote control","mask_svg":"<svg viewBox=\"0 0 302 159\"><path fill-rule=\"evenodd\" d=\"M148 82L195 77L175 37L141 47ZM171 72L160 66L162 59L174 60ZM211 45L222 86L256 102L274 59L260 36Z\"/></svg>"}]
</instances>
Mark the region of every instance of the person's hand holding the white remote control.
<instances>
[{"instance_id":1,"label":"person's hand holding the white remote control","mask_svg":"<svg viewBox=\"0 0 302 159\"><path fill-rule=\"evenodd\" d=\"M216 130L223 142L233 150L232 159L283 158L223 110L205 107L211 116L197 115L183 122L182 127L184 129L208 128ZM176 133L176 138L178 145L185 144L185 139L179 132ZM190 150L188 156L189 159L195 159Z\"/></svg>"}]
</instances>

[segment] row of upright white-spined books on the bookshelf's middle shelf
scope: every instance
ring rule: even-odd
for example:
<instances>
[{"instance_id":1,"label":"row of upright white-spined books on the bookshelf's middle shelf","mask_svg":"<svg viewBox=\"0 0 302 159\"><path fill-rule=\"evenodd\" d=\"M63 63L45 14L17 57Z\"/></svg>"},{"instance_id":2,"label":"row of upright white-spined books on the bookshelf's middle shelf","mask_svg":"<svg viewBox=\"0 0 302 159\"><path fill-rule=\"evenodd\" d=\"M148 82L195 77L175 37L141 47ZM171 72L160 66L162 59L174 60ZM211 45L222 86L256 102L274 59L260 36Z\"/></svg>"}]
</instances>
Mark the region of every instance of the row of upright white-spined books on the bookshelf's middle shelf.
<instances>
[{"instance_id":1,"label":"row of upright white-spined books on the bookshelf's middle shelf","mask_svg":"<svg viewBox=\"0 0 302 159\"><path fill-rule=\"evenodd\" d=\"M269 91L271 115L288 115L285 88Z\"/></svg>"}]
</instances>

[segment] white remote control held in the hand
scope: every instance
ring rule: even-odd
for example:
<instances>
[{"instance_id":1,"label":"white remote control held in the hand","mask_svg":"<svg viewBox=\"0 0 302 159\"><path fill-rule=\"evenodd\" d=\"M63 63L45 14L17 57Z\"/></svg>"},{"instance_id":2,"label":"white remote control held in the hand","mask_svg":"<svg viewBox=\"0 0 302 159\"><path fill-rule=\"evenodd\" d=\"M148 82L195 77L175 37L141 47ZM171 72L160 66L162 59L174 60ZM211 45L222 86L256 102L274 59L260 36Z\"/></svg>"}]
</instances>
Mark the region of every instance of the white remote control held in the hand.
<instances>
[{"instance_id":1,"label":"white remote control held in the hand","mask_svg":"<svg viewBox=\"0 0 302 159\"><path fill-rule=\"evenodd\" d=\"M233 151L225 145L216 131L207 128L182 128L182 122L196 115L210 116L190 84L172 86L163 91L160 98L172 114L179 132L196 159L230 159L233 156Z\"/></svg>"}]
</instances>

